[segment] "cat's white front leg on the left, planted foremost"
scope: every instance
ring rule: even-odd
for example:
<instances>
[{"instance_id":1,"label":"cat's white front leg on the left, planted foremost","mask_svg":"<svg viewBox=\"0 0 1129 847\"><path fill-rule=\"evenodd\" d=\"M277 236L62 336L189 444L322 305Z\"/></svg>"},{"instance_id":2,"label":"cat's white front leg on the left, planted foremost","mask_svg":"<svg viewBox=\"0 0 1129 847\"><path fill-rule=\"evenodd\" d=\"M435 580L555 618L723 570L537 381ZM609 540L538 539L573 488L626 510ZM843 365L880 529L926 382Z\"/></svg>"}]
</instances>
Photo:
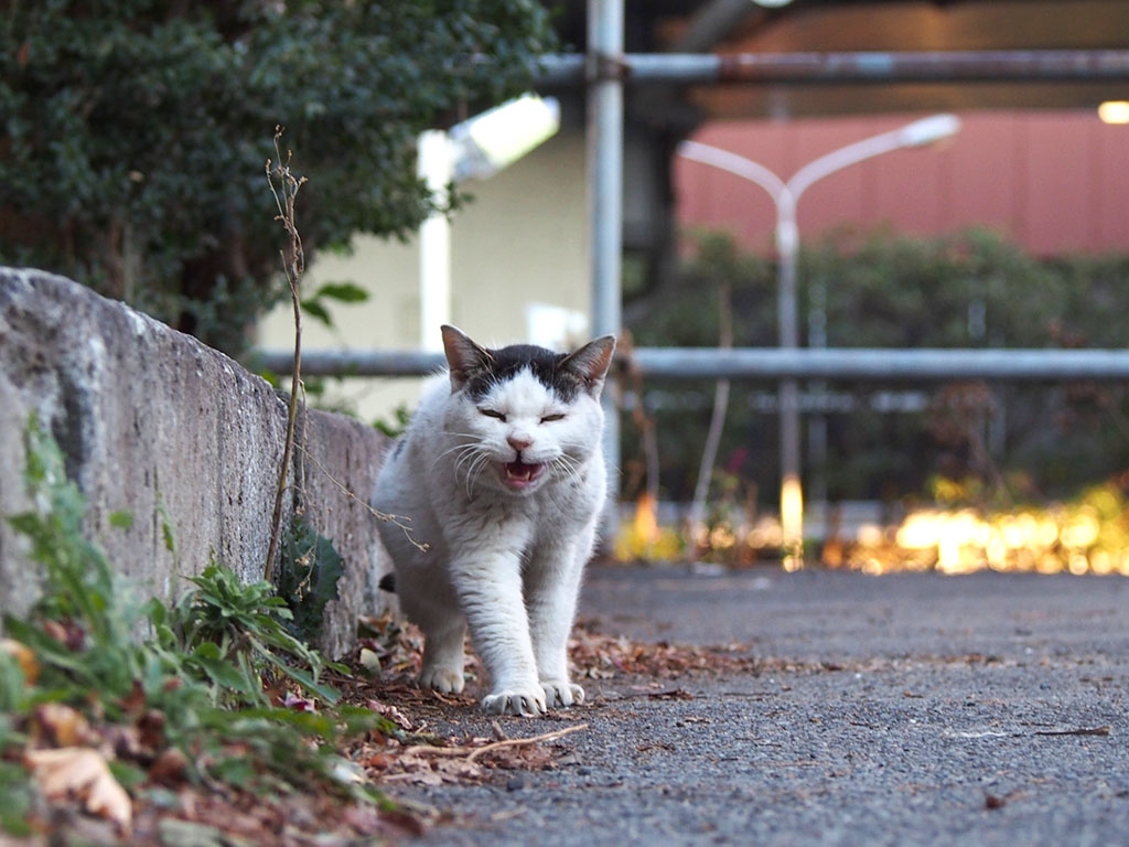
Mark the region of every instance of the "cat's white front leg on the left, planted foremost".
<instances>
[{"instance_id":1,"label":"cat's white front leg on the left, planted foremost","mask_svg":"<svg viewBox=\"0 0 1129 847\"><path fill-rule=\"evenodd\" d=\"M490 675L482 709L495 715L537 715L545 693L530 641L516 555L492 552L452 566L452 582L471 628L471 639Z\"/></svg>"}]
</instances>

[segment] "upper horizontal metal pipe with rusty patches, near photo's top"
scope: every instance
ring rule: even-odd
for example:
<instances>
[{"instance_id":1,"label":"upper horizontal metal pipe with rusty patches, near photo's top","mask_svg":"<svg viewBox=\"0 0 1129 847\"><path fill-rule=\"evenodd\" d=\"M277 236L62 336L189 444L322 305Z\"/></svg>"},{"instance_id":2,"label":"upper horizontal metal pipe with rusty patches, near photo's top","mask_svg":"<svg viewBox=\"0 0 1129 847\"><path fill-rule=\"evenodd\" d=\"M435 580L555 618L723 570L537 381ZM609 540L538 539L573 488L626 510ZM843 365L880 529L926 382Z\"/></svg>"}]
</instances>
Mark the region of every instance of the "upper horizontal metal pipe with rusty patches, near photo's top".
<instances>
[{"instance_id":1,"label":"upper horizontal metal pipe with rusty patches, near photo's top","mask_svg":"<svg viewBox=\"0 0 1129 847\"><path fill-rule=\"evenodd\" d=\"M535 81L585 81L585 56L543 56ZM624 82L960 82L1129 80L1126 50L945 50L839 53L628 53L594 63Z\"/></svg>"}]
</instances>

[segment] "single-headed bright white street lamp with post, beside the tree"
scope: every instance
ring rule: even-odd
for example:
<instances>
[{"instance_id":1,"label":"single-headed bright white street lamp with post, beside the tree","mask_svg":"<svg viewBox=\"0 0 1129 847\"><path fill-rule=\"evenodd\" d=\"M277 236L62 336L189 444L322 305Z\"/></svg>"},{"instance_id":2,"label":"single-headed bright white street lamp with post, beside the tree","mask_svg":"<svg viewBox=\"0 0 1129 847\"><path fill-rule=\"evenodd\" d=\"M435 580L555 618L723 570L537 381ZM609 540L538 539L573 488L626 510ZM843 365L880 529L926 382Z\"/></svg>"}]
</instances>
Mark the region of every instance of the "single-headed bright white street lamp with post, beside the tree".
<instances>
[{"instance_id":1,"label":"single-headed bright white street lamp with post, beside the tree","mask_svg":"<svg viewBox=\"0 0 1129 847\"><path fill-rule=\"evenodd\" d=\"M417 174L443 208L447 185L485 180L511 165L560 129L560 104L526 94L457 123L420 133ZM441 211L419 230L420 347L441 350L438 328L450 323L450 221Z\"/></svg>"}]
</instances>

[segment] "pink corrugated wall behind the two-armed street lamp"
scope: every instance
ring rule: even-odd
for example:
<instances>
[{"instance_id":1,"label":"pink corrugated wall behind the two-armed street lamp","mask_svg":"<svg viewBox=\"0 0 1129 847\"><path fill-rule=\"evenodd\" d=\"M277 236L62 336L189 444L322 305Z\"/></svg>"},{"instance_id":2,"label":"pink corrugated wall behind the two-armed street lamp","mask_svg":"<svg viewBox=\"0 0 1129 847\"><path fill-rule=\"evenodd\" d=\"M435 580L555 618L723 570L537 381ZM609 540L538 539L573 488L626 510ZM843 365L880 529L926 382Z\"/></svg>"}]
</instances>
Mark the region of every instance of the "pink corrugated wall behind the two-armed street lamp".
<instances>
[{"instance_id":1,"label":"pink corrugated wall behind the two-armed street lamp","mask_svg":"<svg viewBox=\"0 0 1129 847\"><path fill-rule=\"evenodd\" d=\"M920 115L747 121L703 126L694 140L746 156L787 178L843 145ZM1129 252L1129 126L1095 112L980 112L939 147L898 150L813 185L799 203L804 238L841 225L920 235L970 226L1000 230L1040 255ZM674 168L683 229L733 232L768 250L774 212L767 194L693 161Z\"/></svg>"}]
</instances>

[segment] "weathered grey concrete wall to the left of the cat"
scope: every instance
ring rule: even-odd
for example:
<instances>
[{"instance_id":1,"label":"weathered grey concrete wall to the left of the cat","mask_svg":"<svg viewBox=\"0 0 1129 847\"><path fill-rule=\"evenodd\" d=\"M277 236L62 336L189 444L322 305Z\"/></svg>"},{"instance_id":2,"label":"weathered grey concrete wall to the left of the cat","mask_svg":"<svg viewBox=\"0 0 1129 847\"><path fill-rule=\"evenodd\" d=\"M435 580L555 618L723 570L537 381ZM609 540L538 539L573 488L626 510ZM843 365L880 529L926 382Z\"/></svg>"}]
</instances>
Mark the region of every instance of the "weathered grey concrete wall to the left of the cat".
<instances>
[{"instance_id":1,"label":"weathered grey concrete wall to the left of the cat","mask_svg":"<svg viewBox=\"0 0 1129 847\"><path fill-rule=\"evenodd\" d=\"M88 534L145 592L172 596L213 555L244 579L262 577L286 434L286 405L266 382L68 279L0 268L0 516L29 505L23 434L33 411L87 496ZM342 416L306 420L316 461L305 461L305 517L347 562L321 645L340 656L357 615L379 610L376 582L390 568L375 518L341 487L367 499L385 440ZM287 518L292 505L288 497ZM110 525L117 510L132 513L129 530ZM23 539L0 522L0 609L25 610L36 586Z\"/></svg>"}]
</instances>

